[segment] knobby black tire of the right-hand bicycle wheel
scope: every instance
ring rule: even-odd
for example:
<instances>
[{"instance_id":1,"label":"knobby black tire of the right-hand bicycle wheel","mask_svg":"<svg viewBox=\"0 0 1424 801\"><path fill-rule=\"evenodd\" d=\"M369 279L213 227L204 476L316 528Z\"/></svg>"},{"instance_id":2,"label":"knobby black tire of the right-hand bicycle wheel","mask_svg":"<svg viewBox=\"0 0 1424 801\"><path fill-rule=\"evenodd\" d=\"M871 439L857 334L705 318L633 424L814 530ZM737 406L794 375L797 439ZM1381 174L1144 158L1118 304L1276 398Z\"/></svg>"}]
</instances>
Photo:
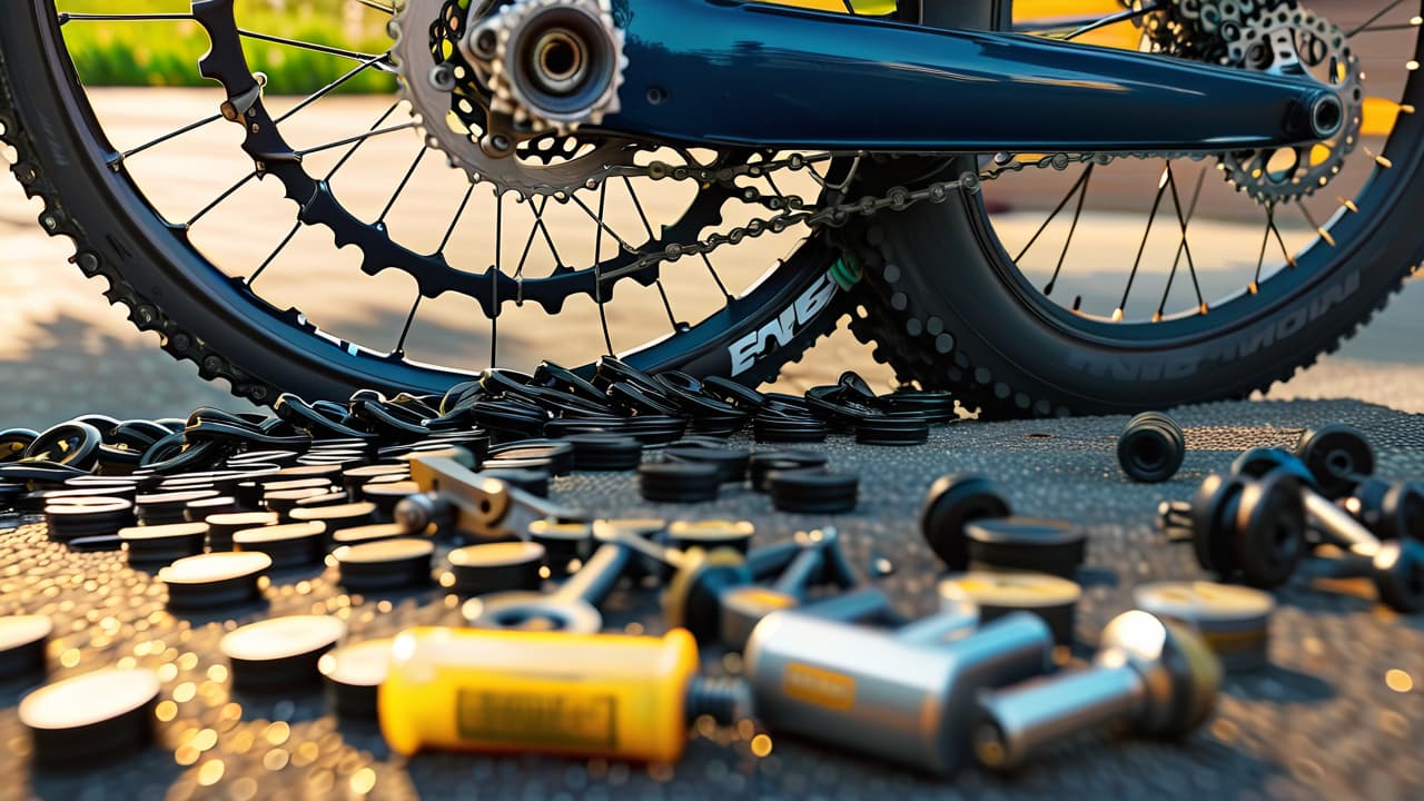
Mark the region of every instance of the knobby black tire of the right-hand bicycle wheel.
<instances>
[{"instance_id":1,"label":"knobby black tire of the right-hand bicycle wheel","mask_svg":"<svg viewBox=\"0 0 1424 801\"><path fill-rule=\"evenodd\" d=\"M1405 93L1401 103L1424 100L1417 71ZM1151 332L1048 302L1004 252L980 197L884 212L844 232L870 288L852 329L876 343L876 358L901 379L951 389L988 418L1131 413L1245 398L1336 349L1424 258L1415 234L1424 218L1418 114L1401 115L1384 155L1394 167L1376 171L1360 202L1373 211L1344 215L1331 228L1339 248L1317 244L1297 269L1265 282L1259 296ZM862 191L890 185L894 175L880 171Z\"/></svg>"}]
</instances>

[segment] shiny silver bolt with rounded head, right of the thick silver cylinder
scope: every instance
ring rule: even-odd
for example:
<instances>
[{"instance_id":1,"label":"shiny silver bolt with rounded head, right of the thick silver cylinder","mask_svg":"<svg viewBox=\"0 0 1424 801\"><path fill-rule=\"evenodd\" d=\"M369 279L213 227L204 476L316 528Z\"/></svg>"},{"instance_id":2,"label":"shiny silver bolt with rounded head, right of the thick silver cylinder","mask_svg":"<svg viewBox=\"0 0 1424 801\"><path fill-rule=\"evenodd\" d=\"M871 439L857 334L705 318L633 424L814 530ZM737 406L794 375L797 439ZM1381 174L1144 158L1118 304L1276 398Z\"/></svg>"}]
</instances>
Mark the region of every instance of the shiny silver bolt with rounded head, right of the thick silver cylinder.
<instances>
[{"instance_id":1,"label":"shiny silver bolt with rounded head, right of the thick silver cylinder","mask_svg":"<svg viewBox=\"0 0 1424 801\"><path fill-rule=\"evenodd\" d=\"M980 696L974 758L1011 770L1072 734L1124 723L1142 737L1178 738L1216 703L1222 666L1190 630L1146 611L1108 623L1094 667Z\"/></svg>"}]
</instances>

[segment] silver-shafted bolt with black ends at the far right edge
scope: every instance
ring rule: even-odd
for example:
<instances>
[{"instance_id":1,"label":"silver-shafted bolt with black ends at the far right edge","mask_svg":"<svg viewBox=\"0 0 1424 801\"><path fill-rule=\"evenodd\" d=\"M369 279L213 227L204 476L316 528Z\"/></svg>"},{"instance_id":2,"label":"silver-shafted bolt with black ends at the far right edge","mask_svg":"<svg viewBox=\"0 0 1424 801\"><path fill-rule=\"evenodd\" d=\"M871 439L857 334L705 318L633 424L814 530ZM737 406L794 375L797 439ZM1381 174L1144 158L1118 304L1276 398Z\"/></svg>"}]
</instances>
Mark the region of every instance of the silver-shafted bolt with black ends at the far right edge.
<instances>
[{"instance_id":1,"label":"silver-shafted bolt with black ends at the far right edge","mask_svg":"<svg viewBox=\"0 0 1424 801\"><path fill-rule=\"evenodd\" d=\"M1309 483L1313 473L1306 463L1284 450L1247 450L1235 466L1246 475L1270 470L1269 476L1287 475L1306 482L1297 485L1306 515L1326 542L1351 554L1347 557L1350 573L1373 580L1380 600L1390 609L1403 614L1424 611L1424 543L1381 542L1349 512L1316 492Z\"/></svg>"}]
</instances>

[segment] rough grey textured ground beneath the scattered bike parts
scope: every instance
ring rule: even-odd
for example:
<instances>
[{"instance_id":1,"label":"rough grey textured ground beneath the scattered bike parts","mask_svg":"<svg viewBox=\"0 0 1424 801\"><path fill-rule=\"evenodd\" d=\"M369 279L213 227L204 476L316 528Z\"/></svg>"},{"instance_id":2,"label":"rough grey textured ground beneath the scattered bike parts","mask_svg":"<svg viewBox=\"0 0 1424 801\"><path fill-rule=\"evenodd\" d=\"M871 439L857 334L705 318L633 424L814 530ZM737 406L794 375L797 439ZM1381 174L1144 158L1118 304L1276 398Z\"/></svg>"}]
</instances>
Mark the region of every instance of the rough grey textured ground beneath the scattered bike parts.
<instances>
[{"instance_id":1,"label":"rough grey textured ground beneath the scattered bike parts","mask_svg":"<svg viewBox=\"0 0 1424 801\"><path fill-rule=\"evenodd\" d=\"M876 559L894 572L867 579L906 613L934 609L937 564L920 544L916 510L930 482L947 472L990 475L1012 492L1015 512L1065 516L1091 536L1082 574L1078 636L1082 656L1112 616L1129 609L1136 584L1203 577L1190 549L1163 544L1153 530L1158 502L1189 497L1242 449L1289 445L1306 428L1349 422L1380 450L1381 475L1424 476L1424 418L1350 402L1230 403L1183 410L1190 453L1179 477L1155 487L1128 485L1112 449L1121 418L1021 423L960 423L911 449L823 446L839 470L863 476L854 515L778 515L765 496L725 492L703 506L654 506L638 499L632 475L572 476L555 497L600 515L738 516L758 524L758 542L833 524L854 564ZM816 446L812 446L816 448ZM17 527L16 527L17 526ZM1357 591L1356 591L1357 590ZM773 738L769 757L750 753L753 731L693 734L672 770L541 757L392 755L377 731L337 724L319 691L288 700L234 696L221 636L278 614L346 617L350 639L390 636L412 624L457 624L453 600L429 590L390 599L352 597L335 570L275 577L269 606L235 619L184 619L164 609L164 589L120 554L71 554L50 543L43 523L0 519L0 614L43 613L57 627L53 677L118 663L151 667L164 700L177 701L159 744L127 761L73 775L31 775L28 737L16 704L28 687L0 686L0 798L1421 798L1424 797L1424 620L1398 619L1368 586L1314 587L1297 579L1279 593L1273 667L1227 680L1213 721L1185 745L1087 737L1064 745L1014 780L968 768L937 781ZM659 633L652 591L618 593L612 629ZM834 647L833 643L827 647ZM735 671L736 658L705 656L708 671ZM1414 688L1386 683L1403 671ZM1404 688L1400 674L1394 684ZM171 708L169 708L171 711Z\"/></svg>"}]
</instances>

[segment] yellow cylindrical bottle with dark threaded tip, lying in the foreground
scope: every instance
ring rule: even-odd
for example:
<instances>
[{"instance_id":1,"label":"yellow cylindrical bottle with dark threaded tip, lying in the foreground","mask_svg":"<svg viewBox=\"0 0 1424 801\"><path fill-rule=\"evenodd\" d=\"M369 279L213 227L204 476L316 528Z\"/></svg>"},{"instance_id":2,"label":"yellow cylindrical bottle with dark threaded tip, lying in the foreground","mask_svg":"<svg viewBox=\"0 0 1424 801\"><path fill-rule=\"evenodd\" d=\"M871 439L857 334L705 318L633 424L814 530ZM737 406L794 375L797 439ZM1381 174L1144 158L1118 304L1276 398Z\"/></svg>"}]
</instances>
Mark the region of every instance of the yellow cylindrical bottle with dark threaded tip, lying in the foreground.
<instances>
[{"instance_id":1,"label":"yellow cylindrical bottle with dark threaded tip, lying in the foreground","mask_svg":"<svg viewBox=\"0 0 1424 801\"><path fill-rule=\"evenodd\" d=\"M538 751L674 763L702 714L746 714L742 684L696 676L696 641L665 637L412 629L380 687L380 730L400 754Z\"/></svg>"}]
</instances>

